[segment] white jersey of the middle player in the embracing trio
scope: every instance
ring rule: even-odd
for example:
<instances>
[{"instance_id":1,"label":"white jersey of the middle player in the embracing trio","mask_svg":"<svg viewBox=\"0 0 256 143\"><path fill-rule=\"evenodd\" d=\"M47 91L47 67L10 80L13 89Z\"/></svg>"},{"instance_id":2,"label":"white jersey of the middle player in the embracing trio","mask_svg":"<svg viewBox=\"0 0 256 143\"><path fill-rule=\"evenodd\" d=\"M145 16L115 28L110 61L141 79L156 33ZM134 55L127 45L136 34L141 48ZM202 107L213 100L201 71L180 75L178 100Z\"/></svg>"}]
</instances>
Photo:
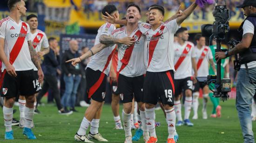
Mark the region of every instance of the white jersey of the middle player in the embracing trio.
<instances>
[{"instance_id":1,"label":"white jersey of the middle player in the embracing trio","mask_svg":"<svg viewBox=\"0 0 256 143\"><path fill-rule=\"evenodd\" d=\"M147 71L147 42L146 36L136 28L131 35L127 35L126 26L112 32L114 38L134 37L135 44L131 46L118 45L117 72L127 76L141 76Z\"/></svg>"}]
</instances>

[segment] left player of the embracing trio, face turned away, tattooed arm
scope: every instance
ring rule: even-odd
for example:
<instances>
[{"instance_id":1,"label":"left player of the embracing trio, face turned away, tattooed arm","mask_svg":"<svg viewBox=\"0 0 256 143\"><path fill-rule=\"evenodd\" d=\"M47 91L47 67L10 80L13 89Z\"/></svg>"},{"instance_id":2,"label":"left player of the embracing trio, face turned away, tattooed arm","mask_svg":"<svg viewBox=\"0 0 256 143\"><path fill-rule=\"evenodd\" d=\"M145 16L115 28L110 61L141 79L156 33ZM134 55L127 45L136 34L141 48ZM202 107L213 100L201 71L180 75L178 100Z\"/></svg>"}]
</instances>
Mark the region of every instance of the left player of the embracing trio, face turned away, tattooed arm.
<instances>
[{"instance_id":1,"label":"left player of the embracing trio, face turned away, tattooed arm","mask_svg":"<svg viewBox=\"0 0 256 143\"><path fill-rule=\"evenodd\" d=\"M115 14L117 17L119 17L119 13L114 5L105 6L102 9L102 14L106 15L105 12L108 12L111 15ZM101 136L101 134L98 132L98 128L101 110L105 99L106 78L110 68L109 63L115 52L114 44L124 44L129 46L134 43L134 38L125 37L122 39L115 39L109 36L111 41L106 42L106 45L101 44L101 37L104 35L111 35L114 30L115 25L105 23L98 30L94 47L92 47L81 57L73 58L67 61L72 62L72 65L76 65L77 63L81 62L81 60L91 57L95 54L91 58L86 69L88 97L91 97L92 100L90 106L85 111L85 115L79 130L74 136L75 140L77 141L93 143L92 141L89 141L89 138L94 138L99 141L108 141ZM88 138L86 136L86 131L90 125L91 129Z\"/></svg>"}]
</instances>

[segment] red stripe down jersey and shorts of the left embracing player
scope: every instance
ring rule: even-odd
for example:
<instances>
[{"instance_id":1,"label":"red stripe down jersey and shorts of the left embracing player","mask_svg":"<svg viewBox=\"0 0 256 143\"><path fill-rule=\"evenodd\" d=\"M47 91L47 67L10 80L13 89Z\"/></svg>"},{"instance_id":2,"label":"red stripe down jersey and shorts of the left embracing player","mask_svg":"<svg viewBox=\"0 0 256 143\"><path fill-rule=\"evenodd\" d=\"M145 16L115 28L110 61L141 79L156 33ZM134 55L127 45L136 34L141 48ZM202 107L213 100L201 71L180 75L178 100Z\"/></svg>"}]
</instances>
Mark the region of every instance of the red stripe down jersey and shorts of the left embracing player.
<instances>
[{"instance_id":1,"label":"red stripe down jersey and shorts of the left embracing player","mask_svg":"<svg viewBox=\"0 0 256 143\"><path fill-rule=\"evenodd\" d=\"M105 77L105 73L104 71L108 68L108 64L113 56L115 52L115 48L113 49L113 51L111 52L111 54L108 56L108 59L107 59L107 63L106 65L104 66L104 69L102 70L101 72L101 76L100 78L98 79L98 81L89 89L89 92L88 92L88 98L90 98L94 93L95 91L101 86L101 83Z\"/></svg>"}]
</instances>

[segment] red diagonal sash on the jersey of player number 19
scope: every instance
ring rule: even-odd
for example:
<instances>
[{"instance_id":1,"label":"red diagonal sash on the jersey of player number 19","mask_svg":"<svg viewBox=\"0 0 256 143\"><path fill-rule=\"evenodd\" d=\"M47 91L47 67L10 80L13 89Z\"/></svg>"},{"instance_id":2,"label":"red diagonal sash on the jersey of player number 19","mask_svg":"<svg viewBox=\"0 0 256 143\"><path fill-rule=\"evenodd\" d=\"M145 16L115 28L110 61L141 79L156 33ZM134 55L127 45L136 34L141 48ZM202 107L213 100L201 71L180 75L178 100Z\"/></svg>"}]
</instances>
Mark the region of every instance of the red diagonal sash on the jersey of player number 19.
<instances>
[{"instance_id":1,"label":"red diagonal sash on the jersey of player number 19","mask_svg":"<svg viewBox=\"0 0 256 143\"><path fill-rule=\"evenodd\" d=\"M161 28L160 28L160 30L159 30L159 31L161 31L161 33L159 33L159 31L158 31L155 35L152 36L153 39L155 39L155 37L157 37L157 36L162 35L164 27L165 27L164 25L161 26ZM154 54L154 51L155 51L155 47L156 47L158 41L159 41L159 38L157 38L156 40L152 40L152 41L149 42L148 66L149 66L149 64L150 64L150 62L151 62L151 60L152 60L152 58L153 58L153 54Z\"/></svg>"}]
</instances>

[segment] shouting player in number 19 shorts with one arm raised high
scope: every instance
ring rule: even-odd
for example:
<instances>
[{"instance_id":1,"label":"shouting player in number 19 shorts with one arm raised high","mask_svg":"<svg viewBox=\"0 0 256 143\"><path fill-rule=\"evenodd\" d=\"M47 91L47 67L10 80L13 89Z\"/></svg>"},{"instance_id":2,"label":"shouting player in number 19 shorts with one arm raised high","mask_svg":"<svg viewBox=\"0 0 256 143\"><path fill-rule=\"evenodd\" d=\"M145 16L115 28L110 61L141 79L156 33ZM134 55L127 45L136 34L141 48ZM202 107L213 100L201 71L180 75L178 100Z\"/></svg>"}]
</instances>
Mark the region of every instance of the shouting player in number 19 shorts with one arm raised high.
<instances>
[{"instance_id":1,"label":"shouting player in number 19 shorts with one arm raised high","mask_svg":"<svg viewBox=\"0 0 256 143\"><path fill-rule=\"evenodd\" d=\"M163 23L164 9L162 7L151 7L149 9L149 24L141 23L139 27L143 34L147 37L149 48L148 69L144 78L143 101L146 102L146 118L150 138L148 143L156 143L155 134L155 109L160 98L164 104L168 122L168 143L175 143L175 112L174 112L174 51L173 41L174 34L178 30L179 25L193 12L196 3L193 3L186 9L182 16L175 20L169 19ZM126 25L126 21L116 21L110 17L110 21ZM123 23L124 22L124 23ZM145 31L145 32L144 32Z\"/></svg>"}]
</instances>

